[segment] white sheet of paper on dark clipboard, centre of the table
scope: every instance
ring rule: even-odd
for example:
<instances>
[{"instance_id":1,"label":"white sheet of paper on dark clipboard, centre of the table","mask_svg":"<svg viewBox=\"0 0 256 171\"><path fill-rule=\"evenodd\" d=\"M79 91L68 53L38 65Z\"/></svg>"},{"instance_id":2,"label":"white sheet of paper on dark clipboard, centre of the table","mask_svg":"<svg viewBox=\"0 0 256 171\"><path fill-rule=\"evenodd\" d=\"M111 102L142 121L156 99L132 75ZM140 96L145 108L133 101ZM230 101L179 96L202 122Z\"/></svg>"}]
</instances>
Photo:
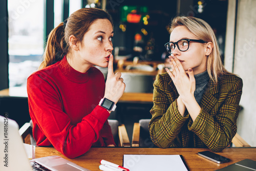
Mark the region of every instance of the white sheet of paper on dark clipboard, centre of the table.
<instances>
[{"instance_id":1,"label":"white sheet of paper on dark clipboard, centre of the table","mask_svg":"<svg viewBox=\"0 0 256 171\"><path fill-rule=\"evenodd\" d=\"M123 155L123 167L141 170L189 170L182 155Z\"/></svg>"}]
</instances>

